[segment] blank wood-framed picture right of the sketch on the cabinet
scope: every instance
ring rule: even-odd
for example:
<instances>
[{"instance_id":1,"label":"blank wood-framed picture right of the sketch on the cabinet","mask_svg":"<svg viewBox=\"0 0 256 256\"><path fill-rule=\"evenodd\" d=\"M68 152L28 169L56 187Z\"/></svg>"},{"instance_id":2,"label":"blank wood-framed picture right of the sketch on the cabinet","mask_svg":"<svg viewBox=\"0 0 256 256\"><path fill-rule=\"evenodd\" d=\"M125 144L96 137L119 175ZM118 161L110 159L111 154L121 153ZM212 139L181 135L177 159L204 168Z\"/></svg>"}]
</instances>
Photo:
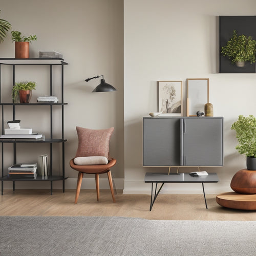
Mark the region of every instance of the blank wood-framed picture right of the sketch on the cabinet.
<instances>
[{"instance_id":1,"label":"blank wood-framed picture right of the sketch on the cabinet","mask_svg":"<svg viewBox=\"0 0 256 256\"><path fill-rule=\"evenodd\" d=\"M209 103L209 78L187 78L187 116L204 112L205 103Z\"/></svg>"}]
</instances>

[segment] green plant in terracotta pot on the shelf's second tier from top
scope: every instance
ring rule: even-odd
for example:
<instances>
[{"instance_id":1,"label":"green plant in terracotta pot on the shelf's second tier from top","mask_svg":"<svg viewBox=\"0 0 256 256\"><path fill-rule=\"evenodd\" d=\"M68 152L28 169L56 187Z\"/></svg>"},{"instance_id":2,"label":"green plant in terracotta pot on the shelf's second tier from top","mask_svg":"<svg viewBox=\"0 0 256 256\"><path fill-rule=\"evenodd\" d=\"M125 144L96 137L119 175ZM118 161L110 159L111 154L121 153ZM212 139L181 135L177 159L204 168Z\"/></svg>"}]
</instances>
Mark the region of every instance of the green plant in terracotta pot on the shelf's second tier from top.
<instances>
[{"instance_id":1,"label":"green plant in terracotta pot on the shelf's second tier from top","mask_svg":"<svg viewBox=\"0 0 256 256\"><path fill-rule=\"evenodd\" d=\"M35 86L36 82L32 81L15 82L12 88L13 103L18 103L18 98L20 103L29 103L32 97L32 90L35 90Z\"/></svg>"}]
</instances>

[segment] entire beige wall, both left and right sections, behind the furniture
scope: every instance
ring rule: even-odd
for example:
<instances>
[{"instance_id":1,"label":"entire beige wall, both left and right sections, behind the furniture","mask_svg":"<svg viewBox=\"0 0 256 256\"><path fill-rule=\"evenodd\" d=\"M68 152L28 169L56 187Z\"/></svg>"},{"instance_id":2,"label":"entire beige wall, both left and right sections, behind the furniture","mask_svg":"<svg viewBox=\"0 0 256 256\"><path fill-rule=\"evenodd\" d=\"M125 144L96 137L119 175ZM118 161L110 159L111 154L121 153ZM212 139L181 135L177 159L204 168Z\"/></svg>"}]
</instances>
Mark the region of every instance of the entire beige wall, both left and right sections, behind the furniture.
<instances>
[{"instance_id":1,"label":"entire beige wall, both left and right sections, behind the furniture","mask_svg":"<svg viewBox=\"0 0 256 256\"><path fill-rule=\"evenodd\" d=\"M13 30L37 35L38 40L31 45L32 57L39 50L56 50L69 62L65 67L65 100L69 103L65 107L65 164L71 178L66 186L75 188L76 172L69 167L77 146L75 126L114 126L111 153L118 159L112 170L116 184L122 187L124 177L124 193L148 192L150 186L143 182L145 172L165 171L142 167L142 117L157 111L157 81L182 80L185 106L186 78L209 78L214 114L224 116L224 166L206 169L217 172L220 182L205 188L208 193L230 190L233 174L245 167L244 156L234 150L236 138L230 126L239 114L256 115L256 87L255 73L218 73L218 16L254 15L255 7L254 0L2 0L1 18L9 20ZM0 45L0 56L14 57L10 34ZM47 75L32 73L40 86L47 84ZM84 79L101 74L117 92L91 93L99 79L88 83ZM24 78L27 73L21 70L19 76ZM28 116L38 112L19 115L32 122ZM40 112L45 120L43 115ZM40 128L37 123L33 125ZM24 157L28 157L26 153ZM93 187L93 178L91 181ZM33 186L30 183L28 187ZM163 190L199 191L201 186L195 184L166 185Z\"/></svg>"}]
</instances>

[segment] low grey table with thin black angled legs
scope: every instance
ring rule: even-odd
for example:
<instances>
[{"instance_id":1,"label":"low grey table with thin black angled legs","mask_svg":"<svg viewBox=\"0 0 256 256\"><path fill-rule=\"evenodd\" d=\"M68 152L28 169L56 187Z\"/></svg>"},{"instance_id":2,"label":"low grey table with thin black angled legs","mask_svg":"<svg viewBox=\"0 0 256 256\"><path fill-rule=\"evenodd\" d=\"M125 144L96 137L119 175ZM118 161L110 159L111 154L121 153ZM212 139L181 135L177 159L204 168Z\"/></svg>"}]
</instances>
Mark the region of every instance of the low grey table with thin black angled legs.
<instances>
[{"instance_id":1,"label":"low grey table with thin black angled legs","mask_svg":"<svg viewBox=\"0 0 256 256\"><path fill-rule=\"evenodd\" d=\"M204 192L204 183L215 183L218 182L219 178L216 173L208 173L208 175L204 176L198 176L193 177L189 175L189 173L146 173L144 182L145 183L151 183L151 202L150 202L150 211L153 207L153 204L156 201L156 198L161 191L164 183L202 183L203 187L203 194L204 194L204 201L205 201L205 207L207 207L207 202L205 198L205 192ZM155 192L153 196L153 183L155 183ZM157 191L157 185L158 183L162 183L160 188Z\"/></svg>"}]
</instances>

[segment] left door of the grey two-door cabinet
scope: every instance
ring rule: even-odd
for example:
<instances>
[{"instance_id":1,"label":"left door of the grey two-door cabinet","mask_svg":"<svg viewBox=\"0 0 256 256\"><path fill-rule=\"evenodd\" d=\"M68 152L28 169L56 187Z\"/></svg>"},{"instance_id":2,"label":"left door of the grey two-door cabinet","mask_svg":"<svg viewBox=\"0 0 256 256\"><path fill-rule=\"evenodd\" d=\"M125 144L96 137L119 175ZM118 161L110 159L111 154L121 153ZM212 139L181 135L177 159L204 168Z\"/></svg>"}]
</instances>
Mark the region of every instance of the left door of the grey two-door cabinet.
<instances>
[{"instance_id":1,"label":"left door of the grey two-door cabinet","mask_svg":"<svg viewBox=\"0 0 256 256\"><path fill-rule=\"evenodd\" d=\"M181 165L180 118L143 118L143 166Z\"/></svg>"}]
</instances>

